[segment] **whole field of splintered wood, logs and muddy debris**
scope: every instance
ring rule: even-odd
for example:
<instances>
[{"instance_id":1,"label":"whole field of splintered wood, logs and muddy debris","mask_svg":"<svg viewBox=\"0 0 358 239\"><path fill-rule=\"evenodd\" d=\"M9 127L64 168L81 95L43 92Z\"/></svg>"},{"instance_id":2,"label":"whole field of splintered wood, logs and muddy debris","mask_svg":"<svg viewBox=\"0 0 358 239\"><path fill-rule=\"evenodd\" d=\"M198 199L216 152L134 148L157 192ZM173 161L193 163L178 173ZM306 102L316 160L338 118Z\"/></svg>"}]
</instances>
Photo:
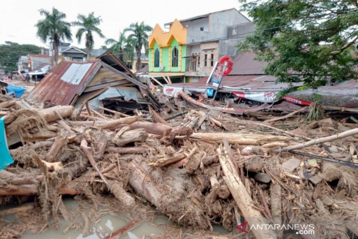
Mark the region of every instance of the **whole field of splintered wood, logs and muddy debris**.
<instances>
[{"instance_id":1,"label":"whole field of splintered wood, logs and muddy debris","mask_svg":"<svg viewBox=\"0 0 358 239\"><path fill-rule=\"evenodd\" d=\"M153 92L163 104L160 111L150 106L127 113L136 116L105 104L95 107L100 112L76 112L73 106L41 109L0 97L14 159L0 171L0 205L19 204L0 211L16 213L14 221L0 222L0 235L57 228L59 217L71 222L65 231L82 228L90 235L98 222L93 215L106 210L100 205L131 215L127 225L102 238L124 235L158 214L170 218L174 225L168 227L180 229L182 238L296 238L272 227L284 218L314 224L315 238L349 238L357 231L356 115L306 122L306 109L299 106L282 115L277 105L224 104L184 92L184 100L169 99ZM78 215L66 209L61 195L78 195ZM96 209L85 212L83 199ZM144 206L148 215L137 211ZM329 224L325 216L332 218ZM214 235L214 224L227 235ZM178 235L166 231L159 237Z\"/></svg>"}]
</instances>

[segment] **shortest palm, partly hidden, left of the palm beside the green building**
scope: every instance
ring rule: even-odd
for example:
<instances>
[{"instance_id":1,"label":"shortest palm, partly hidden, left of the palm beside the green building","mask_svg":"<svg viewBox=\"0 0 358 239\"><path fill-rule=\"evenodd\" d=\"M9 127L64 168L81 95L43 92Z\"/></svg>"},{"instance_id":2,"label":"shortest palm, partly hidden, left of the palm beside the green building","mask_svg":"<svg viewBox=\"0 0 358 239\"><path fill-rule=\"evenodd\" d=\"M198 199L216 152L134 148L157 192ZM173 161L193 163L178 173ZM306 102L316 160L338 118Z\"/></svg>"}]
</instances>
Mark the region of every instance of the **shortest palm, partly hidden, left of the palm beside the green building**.
<instances>
[{"instance_id":1,"label":"shortest palm, partly hidden, left of the palm beside the green building","mask_svg":"<svg viewBox=\"0 0 358 239\"><path fill-rule=\"evenodd\" d=\"M108 49L115 54L122 62L132 62L134 57L134 47L131 38L127 38L124 32L119 32L118 40L113 38L105 41L106 45L111 45Z\"/></svg>"}]
</instances>

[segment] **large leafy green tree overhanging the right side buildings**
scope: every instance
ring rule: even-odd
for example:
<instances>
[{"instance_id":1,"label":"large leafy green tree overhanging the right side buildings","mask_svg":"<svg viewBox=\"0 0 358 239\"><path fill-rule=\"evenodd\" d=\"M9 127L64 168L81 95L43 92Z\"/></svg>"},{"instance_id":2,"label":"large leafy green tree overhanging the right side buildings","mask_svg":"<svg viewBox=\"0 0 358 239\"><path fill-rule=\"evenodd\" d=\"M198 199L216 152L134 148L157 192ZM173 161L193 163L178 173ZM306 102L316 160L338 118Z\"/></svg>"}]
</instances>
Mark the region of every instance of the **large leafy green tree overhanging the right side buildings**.
<instances>
[{"instance_id":1,"label":"large leafy green tree overhanging the right side buildings","mask_svg":"<svg viewBox=\"0 0 358 239\"><path fill-rule=\"evenodd\" d=\"M244 3L256 24L256 32L238 45L241 51L254 51L256 58L268 62L265 73L277 82L289 83L279 96L301 88L357 78L358 40L356 1L268 0Z\"/></svg>"}]
</instances>

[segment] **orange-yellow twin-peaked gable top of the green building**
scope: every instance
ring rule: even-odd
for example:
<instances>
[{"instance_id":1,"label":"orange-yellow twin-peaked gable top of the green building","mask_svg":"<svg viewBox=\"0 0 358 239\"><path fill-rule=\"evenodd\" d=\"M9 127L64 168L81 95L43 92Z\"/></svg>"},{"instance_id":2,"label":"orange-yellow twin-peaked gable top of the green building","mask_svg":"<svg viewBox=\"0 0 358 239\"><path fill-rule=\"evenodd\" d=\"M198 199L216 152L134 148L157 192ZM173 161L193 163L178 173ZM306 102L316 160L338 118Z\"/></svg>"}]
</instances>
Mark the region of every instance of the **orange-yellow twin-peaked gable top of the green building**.
<instances>
[{"instance_id":1,"label":"orange-yellow twin-peaked gable top of the green building","mask_svg":"<svg viewBox=\"0 0 358 239\"><path fill-rule=\"evenodd\" d=\"M164 32L161 27L156 24L152 34L149 36L149 48L153 48L154 43L158 43L159 47L169 47L173 38L179 45L187 43L187 29L175 19L171 24L169 32Z\"/></svg>"}]
</instances>

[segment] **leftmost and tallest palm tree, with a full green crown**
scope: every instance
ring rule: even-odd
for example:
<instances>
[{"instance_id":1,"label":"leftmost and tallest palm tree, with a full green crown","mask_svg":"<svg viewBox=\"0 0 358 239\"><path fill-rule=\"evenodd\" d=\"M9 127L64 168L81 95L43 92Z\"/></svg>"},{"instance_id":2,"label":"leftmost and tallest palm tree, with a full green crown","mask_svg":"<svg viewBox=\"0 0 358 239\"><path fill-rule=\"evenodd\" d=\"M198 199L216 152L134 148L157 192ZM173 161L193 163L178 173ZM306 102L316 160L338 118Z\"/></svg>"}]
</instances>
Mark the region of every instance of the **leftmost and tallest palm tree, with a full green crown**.
<instances>
[{"instance_id":1,"label":"leftmost and tallest palm tree, with a full green crown","mask_svg":"<svg viewBox=\"0 0 358 239\"><path fill-rule=\"evenodd\" d=\"M54 66L58 60L58 45L60 40L65 38L68 41L72 40L71 24L64 21L66 14L55 8L52 8L52 13L44 9L40 9L39 12L42 16L45 16L45 19L38 20L37 24L35 24L35 27L37 27L36 36L44 43L47 43L49 39L53 41L52 49L54 54L52 54L51 64Z\"/></svg>"}]
</instances>

